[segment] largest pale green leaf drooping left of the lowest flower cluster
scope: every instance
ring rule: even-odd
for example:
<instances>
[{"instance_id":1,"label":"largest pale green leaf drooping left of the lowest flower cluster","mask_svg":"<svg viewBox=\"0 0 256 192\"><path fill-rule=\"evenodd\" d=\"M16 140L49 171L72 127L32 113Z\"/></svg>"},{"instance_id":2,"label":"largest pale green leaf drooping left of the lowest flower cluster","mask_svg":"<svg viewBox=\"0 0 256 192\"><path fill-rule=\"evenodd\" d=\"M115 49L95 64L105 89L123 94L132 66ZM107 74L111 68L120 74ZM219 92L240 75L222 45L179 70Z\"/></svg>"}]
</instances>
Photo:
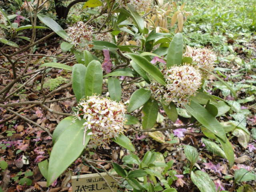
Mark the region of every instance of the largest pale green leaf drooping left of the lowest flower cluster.
<instances>
[{"instance_id":1,"label":"largest pale green leaf drooping left of the lowest flower cluster","mask_svg":"<svg viewBox=\"0 0 256 192\"><path fill-rule=\"evenodd\" d=\"M76 120L70 124L54 144L50 154L47 186L50 186L81 155L88 144L90 140L88 133L91 130L86 131L84 141L84 129L82 128L84 122L85 120Z\"/></svg>"}]
</instances>

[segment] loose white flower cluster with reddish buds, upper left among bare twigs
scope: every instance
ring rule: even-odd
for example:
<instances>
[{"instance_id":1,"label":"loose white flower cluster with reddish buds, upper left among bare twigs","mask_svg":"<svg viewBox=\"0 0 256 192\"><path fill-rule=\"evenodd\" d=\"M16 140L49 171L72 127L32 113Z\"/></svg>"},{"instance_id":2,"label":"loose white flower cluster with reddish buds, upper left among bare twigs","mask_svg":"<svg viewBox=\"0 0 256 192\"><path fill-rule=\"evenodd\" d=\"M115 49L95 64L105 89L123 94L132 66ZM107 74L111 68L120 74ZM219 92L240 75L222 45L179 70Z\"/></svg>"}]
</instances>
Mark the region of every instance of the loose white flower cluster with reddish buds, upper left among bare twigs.
<instances>
[{"instance_id":1,"label":"loose white flower cluster with reddish buds, upper left among bare twigs","mask_svg":"<svg viewBox=\"0 0 256 192\"><path fill-rule=\"evenodd\" d=\"M92 27L86 25L84 22L79 21L74 26L68 28L67 41L71 41L72 44L79 50L90 50L92 48Z\"/></svg>"}]
</instances>

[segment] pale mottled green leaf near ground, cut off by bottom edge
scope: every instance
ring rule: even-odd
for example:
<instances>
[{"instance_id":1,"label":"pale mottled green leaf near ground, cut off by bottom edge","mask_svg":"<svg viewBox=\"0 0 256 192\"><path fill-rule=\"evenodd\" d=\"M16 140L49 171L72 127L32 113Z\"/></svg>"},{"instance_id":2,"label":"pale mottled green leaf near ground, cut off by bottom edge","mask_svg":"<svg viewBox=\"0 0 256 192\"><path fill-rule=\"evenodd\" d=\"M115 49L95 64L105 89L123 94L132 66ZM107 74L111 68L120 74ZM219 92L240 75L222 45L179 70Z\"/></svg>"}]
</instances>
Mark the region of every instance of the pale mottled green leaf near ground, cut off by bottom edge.
<instances>
[{"instance_id":1,"label":"pale mottled green leaf near ground, cut off by bottom edge","mask_svg":"<svg viewBox=\"0 0 256 192\"><path fill-rule=\"evenodd\" d=\"M206 172L200 170L192 171L191 180L198 187L200 192L216 192L215 184Z\"/></svg>"}]
</instances>

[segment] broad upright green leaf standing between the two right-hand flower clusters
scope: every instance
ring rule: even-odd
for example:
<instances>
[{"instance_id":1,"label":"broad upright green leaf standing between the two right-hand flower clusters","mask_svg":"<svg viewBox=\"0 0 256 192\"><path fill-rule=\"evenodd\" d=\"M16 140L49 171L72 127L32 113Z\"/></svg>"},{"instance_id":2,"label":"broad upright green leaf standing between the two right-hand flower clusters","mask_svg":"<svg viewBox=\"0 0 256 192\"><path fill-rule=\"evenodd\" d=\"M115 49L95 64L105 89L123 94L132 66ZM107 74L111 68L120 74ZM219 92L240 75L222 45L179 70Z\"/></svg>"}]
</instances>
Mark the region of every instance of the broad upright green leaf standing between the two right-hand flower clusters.
<instances>
[{"instance_id":1,"label":"broad upright green leaf standing between the two right-hand flower clusters","mask_svg":"<svg viewBox=\"0 0 256 192\"><path fill-rule=\"evenodd\" d=\"M181 33L176 33L169 45L167 52L166 68L182 63L183 38Z\"/></svg>"}]
</instances>

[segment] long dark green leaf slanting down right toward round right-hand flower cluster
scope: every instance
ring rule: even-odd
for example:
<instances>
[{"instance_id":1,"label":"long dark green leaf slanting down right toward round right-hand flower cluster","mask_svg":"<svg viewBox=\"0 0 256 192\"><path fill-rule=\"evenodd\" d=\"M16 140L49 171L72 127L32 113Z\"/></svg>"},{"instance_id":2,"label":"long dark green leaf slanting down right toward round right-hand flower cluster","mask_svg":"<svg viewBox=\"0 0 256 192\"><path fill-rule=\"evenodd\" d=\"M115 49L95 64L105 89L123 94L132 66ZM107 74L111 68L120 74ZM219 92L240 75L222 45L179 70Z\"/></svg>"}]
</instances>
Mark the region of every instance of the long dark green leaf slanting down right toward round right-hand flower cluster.
<instances>
[{"instance_id":1,"label":"long dark green leaf slanting down right toward round right-hand flower cluster","mask_svg":"<svg viewBox=\"0 0 256 192\"><path fill-rule=\"evenodd\" d=\"M133 53L125 54L130 57L136 64L138 64L144 71L150 74L157 82L162 85L165 85L166 82L164 80L164 75L160 72L160 70L150 63L146 58L136 55Z\"/></svg>"}]
</instances>

